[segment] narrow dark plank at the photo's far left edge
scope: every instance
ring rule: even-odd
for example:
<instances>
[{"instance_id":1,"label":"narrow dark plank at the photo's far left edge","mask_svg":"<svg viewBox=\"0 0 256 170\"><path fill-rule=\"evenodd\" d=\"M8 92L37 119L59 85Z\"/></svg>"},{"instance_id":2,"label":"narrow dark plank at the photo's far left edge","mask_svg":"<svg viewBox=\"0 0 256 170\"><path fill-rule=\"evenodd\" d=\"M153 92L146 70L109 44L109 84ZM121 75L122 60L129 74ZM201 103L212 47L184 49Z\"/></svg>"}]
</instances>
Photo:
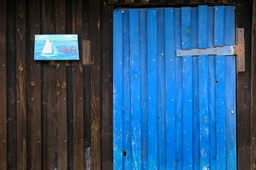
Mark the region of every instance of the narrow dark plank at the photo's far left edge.
<instances>
[{"instance_id":1,"label":"narrow dark plank at the photo's far left edge","mask_svg":"<svg viewBox=\"0 0 256 170\"><path fill-rule=\"evenodd\" d=\"M6 145L6 0L0 4L0 169L7 169L7 145Z\"/></svg>"}]
</instances>

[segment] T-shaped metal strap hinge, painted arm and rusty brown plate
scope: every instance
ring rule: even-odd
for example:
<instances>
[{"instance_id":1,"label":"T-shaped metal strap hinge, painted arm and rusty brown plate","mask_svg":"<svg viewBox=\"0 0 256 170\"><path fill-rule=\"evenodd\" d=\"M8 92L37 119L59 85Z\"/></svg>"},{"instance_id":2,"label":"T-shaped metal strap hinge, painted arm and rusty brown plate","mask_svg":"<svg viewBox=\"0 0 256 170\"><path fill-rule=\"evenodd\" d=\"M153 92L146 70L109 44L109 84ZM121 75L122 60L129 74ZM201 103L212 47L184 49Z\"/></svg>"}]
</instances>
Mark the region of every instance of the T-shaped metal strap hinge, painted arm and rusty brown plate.
<instances>
[{"instance_id":1,"label":"T-shaped metal strap hinge, painted arm and rusty brown plate","mask_svg":"<svg viewBox=\"0 0 256 170\"><path fill-rule=\"evenodd\" d=\"M237 28L236 44L233 46L213 47L206 49L176 50L177 57L194 55L237 55L237 70L245 72L245 35L244 28Z\"/></svg>"}]
</instances>

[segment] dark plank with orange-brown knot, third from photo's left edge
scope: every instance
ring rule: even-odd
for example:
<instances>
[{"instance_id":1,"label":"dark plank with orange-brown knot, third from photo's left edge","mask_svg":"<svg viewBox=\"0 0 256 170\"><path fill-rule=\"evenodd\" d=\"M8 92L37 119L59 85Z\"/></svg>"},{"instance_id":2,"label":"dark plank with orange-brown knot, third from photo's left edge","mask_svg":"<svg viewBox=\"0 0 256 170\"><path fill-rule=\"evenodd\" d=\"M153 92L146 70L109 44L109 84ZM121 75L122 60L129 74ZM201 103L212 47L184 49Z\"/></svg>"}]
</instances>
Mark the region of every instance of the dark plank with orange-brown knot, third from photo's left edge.
<instances>
[{"instance_id":1,"label":"dark plank with orange-brown knot, third from photo's left edge","mask_svg":"<svg viewBox=\"0 0 256 170\"><path fill-rule=\"evenodd\" d=\"M26 3L16 0L17 169L26 169Z\"/></svg>"}]
</instances>

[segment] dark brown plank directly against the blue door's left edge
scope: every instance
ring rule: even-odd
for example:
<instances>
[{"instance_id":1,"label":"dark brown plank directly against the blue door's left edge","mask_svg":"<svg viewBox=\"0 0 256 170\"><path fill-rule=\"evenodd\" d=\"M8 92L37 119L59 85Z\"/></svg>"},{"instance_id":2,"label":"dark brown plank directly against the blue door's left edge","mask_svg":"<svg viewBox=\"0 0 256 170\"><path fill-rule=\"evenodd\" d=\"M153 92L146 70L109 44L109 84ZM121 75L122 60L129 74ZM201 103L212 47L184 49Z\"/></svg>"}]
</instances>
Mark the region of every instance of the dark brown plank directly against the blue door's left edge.
<instances>
[{"instance_id":1,"label":"dark brown plank directly against the blue door's left edge","mask_svg":"<svg viewBox=\"0 0 256 170\"><path fill-rule=\"evenodd\" d=\"M100 1L101 169L113 169L113 6ZM121 30L122 31L122 30ZM88 103L88 101L87 101Z\"/></svg>"}]
</instances>

